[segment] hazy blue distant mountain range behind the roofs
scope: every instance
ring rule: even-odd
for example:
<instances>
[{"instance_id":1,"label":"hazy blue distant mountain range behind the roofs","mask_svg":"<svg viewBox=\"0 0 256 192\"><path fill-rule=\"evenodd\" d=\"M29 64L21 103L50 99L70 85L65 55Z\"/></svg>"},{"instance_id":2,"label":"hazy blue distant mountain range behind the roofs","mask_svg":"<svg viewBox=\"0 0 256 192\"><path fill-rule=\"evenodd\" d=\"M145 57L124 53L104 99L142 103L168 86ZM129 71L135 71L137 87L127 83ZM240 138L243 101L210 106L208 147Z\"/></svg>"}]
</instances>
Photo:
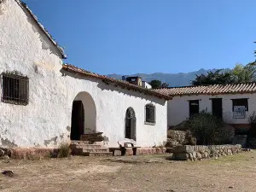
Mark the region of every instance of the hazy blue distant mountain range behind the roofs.
<instances>
[{"instance_id":1,"label":"hazy blue distant mountain range behind the roofs","mask_svg":"<svg viewBox=\"0 0 256 192\"><path fill-rule=\"evenodd\" d=\"M191 85L191 81L195 79L196 75L201 74L207 74L207 72L214 72L217 69L200 69L195 72L190 73L151 73L151 74L145 74L145 73L136 73L131 75L125 75L125 77L129 76L139 76L143 79L143 81L150 82L151 80L158 79L162 83L167 83L171 87L177 87L177 86L187 86ZM109 74L108 77L111 77L113 79L122 79L123 75L120 74Z\"/></svg>"}]
</instances>

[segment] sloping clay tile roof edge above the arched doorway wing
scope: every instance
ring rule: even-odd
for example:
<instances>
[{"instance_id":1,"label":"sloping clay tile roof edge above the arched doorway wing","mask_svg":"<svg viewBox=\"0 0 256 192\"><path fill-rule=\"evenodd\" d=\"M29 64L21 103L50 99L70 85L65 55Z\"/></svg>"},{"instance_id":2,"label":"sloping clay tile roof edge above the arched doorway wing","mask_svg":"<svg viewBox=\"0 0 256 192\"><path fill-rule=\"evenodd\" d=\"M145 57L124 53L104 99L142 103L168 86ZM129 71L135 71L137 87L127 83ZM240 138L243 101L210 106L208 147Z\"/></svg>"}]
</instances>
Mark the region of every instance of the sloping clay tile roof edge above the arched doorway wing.
<instances>
[{"instance_id":1,"label":"sloping clay tile roof edge above the arched doorway wing","mask_svg":"<svg viewBox=\"0 0 256 192\"><path fill-rule=\"evenodd\" d=\"M123 89L126 89L126 90L139 91L139 92L143 93L144 95L157 96L159 98L163 98L163 99L166 99L166 100L172 99L172 96L167 96L166 94L162 94L158 91L148 90L148 89L145 89L145 88L143 88L141 86L138 86L136 84L130 84L127 81L109 78L108 76L105 76L105 75L100 75L100 74L97 74L97 73L91 73L91 72L85 71L82 68L75 67L75 66L70 65L70 64L64 64L62 66L62 69L66 70L68 72L71 72L71 73L79 73L80 75L87 76L87 77L90 77L90 78L102 79L102 81L105 84L113 84L113 85L119 86L119 87L121 87Z\"/></svg>"}]
</instances>

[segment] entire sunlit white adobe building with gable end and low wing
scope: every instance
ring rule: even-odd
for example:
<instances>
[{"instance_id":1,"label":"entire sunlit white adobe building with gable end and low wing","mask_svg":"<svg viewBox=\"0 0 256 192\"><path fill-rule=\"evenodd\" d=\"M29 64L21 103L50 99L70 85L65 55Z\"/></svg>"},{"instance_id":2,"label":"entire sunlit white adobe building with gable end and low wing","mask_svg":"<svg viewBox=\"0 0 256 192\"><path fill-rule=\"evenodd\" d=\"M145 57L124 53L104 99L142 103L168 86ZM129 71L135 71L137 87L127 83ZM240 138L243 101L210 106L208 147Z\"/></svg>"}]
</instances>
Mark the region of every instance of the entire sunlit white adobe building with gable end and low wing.
<instances>
[{"instance_id":1,"label":"entire sunlit white adobe building with gable end and low wing","mask_svg":"<svg viewBox=\"0 0 256 192\"><path fill-rule=\"evenodd\" d=\"M63 65L63 49L19 0L0 0L0 34L1 146L55 147L96 131L108 147L166 141L170 96Z\"/></svg>"}]
</instances>

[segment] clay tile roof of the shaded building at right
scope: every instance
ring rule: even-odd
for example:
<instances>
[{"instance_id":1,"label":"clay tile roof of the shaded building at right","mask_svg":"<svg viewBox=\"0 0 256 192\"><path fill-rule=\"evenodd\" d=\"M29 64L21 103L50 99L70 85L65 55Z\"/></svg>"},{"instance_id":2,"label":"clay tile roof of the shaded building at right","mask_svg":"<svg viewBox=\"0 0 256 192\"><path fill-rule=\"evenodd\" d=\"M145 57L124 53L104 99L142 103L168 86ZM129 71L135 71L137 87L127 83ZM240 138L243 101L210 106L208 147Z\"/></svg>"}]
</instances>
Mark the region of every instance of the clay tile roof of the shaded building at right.
<instances>
[{"instance_id":1,"label":"clay tile roof of the shaded building at right","mask_svg":"<svg viewBox=\"0 0 256 192\"><path fill-rule=\"evenodd\" d=\"M155 90L169 96L219 95L256 92L256 83L212 84L186 87L169 87Z\"/></svg>"}]
</instances>

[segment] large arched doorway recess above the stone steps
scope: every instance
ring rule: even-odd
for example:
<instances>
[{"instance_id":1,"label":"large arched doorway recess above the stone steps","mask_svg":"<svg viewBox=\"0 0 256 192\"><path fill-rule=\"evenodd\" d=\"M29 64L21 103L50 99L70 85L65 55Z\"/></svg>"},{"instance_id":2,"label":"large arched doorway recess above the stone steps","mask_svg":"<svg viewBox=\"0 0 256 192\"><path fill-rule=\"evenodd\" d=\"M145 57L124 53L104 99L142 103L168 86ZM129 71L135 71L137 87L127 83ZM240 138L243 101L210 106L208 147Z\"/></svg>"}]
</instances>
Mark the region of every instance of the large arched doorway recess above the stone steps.
<instances>
[{"instance_id":1,"label":"large arched doorway recess above the stone steps","mask_svg":"<svg viewBox=\"0 0 256 192\"><path fill-rule=\"evenodd\" d=\"M96 132L96 105L87 92L80 92L73 101L71 140L80 140L84 133Z\"/></svg>"}]
</instances>

